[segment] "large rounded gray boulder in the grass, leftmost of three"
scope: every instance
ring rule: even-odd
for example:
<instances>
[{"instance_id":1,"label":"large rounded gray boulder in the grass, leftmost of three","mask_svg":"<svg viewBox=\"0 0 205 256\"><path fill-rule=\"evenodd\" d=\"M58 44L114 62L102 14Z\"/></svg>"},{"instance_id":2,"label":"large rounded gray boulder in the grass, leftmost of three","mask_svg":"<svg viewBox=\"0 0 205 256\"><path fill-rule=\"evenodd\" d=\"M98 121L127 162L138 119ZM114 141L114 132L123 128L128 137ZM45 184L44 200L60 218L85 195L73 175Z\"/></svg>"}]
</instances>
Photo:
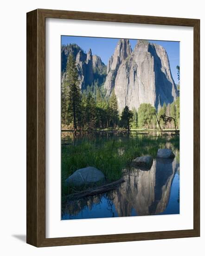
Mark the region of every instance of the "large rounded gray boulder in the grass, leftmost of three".
<instances>
[{"instance_id":1,"label":"large rounded gray boulder in the grass, leftmost of three","mask_svg":"<svg viewBox=\"0 0 205 256\"><path fill-rule=\"evenodd\" d=\"M86 167L78 169L72 175L66 179L66 183L69 186L89 186L95 185L95 183L103 182L105 180L104 174L95 167Z\"/></svg>"}]
</instances>

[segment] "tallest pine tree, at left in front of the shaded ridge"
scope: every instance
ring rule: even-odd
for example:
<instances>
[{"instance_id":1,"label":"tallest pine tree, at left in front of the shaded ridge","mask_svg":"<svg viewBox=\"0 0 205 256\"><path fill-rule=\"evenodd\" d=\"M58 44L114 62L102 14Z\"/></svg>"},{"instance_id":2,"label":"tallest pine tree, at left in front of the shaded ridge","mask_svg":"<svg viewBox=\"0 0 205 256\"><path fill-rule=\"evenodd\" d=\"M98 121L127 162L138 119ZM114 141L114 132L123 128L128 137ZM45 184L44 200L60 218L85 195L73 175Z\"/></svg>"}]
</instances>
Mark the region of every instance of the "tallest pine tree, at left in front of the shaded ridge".
<instances>
[{"instance_id":1,"label":"tallest pine tree, at left in front of the shaded ridge","mask_svg":"<svg viewBox=\"0 0 205 256\"><path fill-rule=\"evenodd\" d=\"M78 72L73 55L69 55L66 67L66 84L68 88L68 117L77 129L81 117L81 93L78 81Z\"/></svg>"}]
</instances>

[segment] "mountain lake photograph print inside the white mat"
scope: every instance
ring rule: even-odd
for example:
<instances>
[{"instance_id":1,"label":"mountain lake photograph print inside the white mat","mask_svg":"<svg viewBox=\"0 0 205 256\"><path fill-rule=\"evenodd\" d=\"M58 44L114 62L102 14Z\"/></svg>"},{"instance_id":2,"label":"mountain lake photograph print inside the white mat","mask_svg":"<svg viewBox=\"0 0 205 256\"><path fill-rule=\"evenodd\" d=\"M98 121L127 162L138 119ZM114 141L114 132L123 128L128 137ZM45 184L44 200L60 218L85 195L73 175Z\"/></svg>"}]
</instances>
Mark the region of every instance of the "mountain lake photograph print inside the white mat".
<instances>
[{"instance_id":1,"label":"mountain lake photograph print inside the white mat","mask_svg":"<svg viewBox=\"0 0 205 256\"><path fill-rule=\"evenodd\" d=\"M135 36L61 35L61 220L180 214L180 42Z\"/></svg>"}]
</instances>

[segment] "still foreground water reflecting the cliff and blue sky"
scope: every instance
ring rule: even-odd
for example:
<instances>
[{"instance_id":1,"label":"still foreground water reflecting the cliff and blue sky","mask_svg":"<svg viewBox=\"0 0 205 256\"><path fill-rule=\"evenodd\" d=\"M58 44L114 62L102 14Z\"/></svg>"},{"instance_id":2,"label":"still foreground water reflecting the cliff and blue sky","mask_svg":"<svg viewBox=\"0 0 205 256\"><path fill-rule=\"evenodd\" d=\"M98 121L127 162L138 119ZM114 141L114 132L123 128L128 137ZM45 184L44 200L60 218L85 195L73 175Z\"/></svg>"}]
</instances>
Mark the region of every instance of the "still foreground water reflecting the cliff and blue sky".
<instances>
[{"instance_id":1,"label":"still foreground water reflecting the cliff and blue sky","mask_svg":"<svg viewBox=\"0 0 205 256\"><path fill-rule=\"evenodd\" d=\"M69 202L62 219L179 214L178 170L176 158L157 158L148 171L127 170L119 189Z\"/></svg>"}]
</instances>

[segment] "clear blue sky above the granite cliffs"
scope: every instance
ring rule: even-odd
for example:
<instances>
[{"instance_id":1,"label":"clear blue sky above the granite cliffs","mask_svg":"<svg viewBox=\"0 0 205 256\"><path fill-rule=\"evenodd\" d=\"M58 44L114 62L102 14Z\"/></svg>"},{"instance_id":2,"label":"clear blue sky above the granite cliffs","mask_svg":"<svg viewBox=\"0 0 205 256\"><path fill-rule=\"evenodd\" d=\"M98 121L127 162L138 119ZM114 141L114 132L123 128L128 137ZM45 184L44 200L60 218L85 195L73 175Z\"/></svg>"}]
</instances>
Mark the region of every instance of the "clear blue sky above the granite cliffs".
<instances>
[{"instance_id":1,"label":"clear blue sky above the granite cliffs","mask_svg":"<svg viewBox=\"0 0 205 256\"><path fill-rule=\"evenodd\" d=\"M86 53L89 49L92 50L92 54L96 54L101 57L105 65L108 64L109 58L115 51L119 39L113 38L100 38L100 37L83 37L83 36L61 36L61 44L66 45L75 43L81 47ZM137 40L129 39L132 49L134 49ZM157 41L148 40L149 42L159 44L163 46L168 54L170 67L175 83L178 83L177 69L179 65L179 42L174 41Z\"/></svg>"}]
</instances>

